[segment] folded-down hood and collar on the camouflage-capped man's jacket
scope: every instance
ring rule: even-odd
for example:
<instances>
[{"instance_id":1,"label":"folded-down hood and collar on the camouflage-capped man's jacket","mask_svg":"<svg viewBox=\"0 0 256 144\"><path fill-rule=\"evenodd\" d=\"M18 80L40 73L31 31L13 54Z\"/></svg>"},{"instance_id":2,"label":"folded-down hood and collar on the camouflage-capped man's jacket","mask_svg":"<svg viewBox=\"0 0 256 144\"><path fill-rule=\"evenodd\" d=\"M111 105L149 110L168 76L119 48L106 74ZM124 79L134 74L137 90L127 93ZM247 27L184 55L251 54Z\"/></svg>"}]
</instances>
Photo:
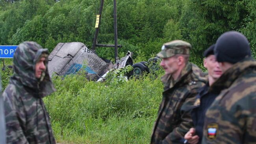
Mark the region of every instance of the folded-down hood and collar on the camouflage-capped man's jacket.
<instances>
[{"instance_id":1,"label":"folded-down hood and collar on the camouflage-capped man's jacket","mask_svg":"<svg viewBox=\"0 0 256 144\"><path fill-rule=\"evenodd\" d=\"M191 74L191 77L187 77L189 74ZM203 73L202 70L196 65L187 63L187 65L182 69L182 72L176 81L173 80L171 74L167 74L161 78L165 90L172 88L174 85L179 86L189 83L191 79L206 83L207 74Z\"/></svg>"}]
</instances>

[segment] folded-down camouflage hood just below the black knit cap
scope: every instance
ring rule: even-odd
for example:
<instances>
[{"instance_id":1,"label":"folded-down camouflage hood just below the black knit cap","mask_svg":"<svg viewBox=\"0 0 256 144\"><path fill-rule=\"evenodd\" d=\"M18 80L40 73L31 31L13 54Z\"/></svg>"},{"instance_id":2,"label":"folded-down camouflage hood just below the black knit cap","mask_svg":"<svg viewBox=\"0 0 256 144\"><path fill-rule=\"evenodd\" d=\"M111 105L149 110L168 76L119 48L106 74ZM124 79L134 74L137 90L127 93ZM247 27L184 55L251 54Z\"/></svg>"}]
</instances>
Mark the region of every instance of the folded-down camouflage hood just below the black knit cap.
<instances>
[{"instance_id":1,"label":"folded-down camouflage hood just below the black knit cap","mask_svg":"<svg viewBox=\"0 0 256 144\"><path fill-rule=\"evenodd\" d=\"M230 87L237 77L250 69L256 70L256 61L253 58L245 58L242 61L235 63L231 68L226 70L213 85L211 85L210 92L219 94L221 90Z\"/></svg>"}]
</instances>

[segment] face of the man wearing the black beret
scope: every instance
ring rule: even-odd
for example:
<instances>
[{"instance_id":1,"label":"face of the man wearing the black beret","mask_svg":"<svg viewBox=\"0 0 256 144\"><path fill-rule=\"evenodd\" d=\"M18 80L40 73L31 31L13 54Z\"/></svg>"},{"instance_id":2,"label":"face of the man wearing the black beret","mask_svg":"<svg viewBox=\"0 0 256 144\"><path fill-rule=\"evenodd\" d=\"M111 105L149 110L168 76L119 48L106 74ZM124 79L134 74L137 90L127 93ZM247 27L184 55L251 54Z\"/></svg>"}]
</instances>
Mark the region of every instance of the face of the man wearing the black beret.
<instances>
[{"instance_id":1,"label":"face of the man wearing the black beret","mask_svg":"<svg viewBox=\"0 0 256 144\"><path fill-rule=\"evenodd\" d=\"M204 67L208 70L208 76L215 80L222 74L222 70L214 55L210 55L204 59Z\"/></svg>"}]
</instances>

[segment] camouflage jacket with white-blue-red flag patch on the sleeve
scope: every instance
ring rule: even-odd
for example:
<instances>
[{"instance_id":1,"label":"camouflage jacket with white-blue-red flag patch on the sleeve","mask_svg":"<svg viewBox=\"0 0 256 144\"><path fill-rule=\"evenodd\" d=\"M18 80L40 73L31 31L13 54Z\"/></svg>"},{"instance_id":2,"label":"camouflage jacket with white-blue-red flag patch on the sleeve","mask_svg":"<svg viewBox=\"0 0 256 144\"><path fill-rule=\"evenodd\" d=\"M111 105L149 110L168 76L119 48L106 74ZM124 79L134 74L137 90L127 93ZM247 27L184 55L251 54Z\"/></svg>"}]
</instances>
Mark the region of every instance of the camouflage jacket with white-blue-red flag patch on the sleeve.
<instances>
[{"instance_id":1,"label":"camouflage jacket with white-blue-red flag patch on the sleeve","mask_svg":"<svg viewBox=\"0 0 256 144\"><path fill-rule=\"evenodd\" d=\"M203 144L256 143L256 61L234 64L210 87L220 94L206 112Z\"/></svg>"}]
</instances>

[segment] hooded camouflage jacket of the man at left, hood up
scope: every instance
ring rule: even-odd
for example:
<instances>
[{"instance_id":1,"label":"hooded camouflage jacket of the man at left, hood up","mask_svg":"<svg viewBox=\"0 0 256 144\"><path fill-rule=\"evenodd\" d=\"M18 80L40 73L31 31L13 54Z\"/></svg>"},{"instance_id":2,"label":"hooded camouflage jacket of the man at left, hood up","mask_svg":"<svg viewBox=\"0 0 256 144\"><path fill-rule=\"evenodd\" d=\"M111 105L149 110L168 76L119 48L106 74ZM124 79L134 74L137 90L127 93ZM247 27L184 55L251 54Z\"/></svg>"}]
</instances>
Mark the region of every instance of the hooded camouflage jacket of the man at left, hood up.
<instances>
[{"instance_id":1,"label":"hooded camouflage jacket of the man at left, hood up","mask_svg":"<svg viewBox=\"0 0 256 144\"><path fill-rule=\"evenodd\" d=\"M35 64L48 50L32 41L21 43L13 58L14 74L4 90L8 144L55 144L42 98L55 91L47 70L35 77Z\"/></svg>"}]
</instances>

